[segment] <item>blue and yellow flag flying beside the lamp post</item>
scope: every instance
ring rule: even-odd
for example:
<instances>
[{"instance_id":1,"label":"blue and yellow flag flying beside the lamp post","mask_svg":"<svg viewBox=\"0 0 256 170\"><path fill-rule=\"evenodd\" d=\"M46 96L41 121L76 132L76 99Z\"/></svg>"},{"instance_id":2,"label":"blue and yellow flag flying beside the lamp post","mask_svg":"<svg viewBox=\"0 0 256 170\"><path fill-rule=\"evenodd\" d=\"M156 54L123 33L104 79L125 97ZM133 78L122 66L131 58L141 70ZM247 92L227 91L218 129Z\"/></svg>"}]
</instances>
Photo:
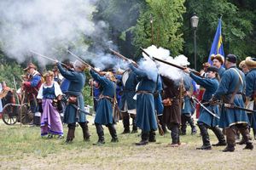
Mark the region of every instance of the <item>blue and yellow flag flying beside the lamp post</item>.
<instances>
[{"instance_id":1,"label":"blue and yellow flag flying beside the lamp post","mask_svg":"<svg viewBox=\"0 0 256 170\"><path fill-rule=\"evenodd\" d=\"M208 63L211 63L212 65L212 61L211 61L211 55L212 54L221 54L224 57L224 48L223 48L223 43L222 43L222 36L221 36L221 18L220 17L219 21L218 21L218 28L214 37L214 40L212 42L212 48L211 48L211 52L209 54L209 58L208 58ZM222 65L224 66L224 65Z\"/></svg>"}]
</instances>

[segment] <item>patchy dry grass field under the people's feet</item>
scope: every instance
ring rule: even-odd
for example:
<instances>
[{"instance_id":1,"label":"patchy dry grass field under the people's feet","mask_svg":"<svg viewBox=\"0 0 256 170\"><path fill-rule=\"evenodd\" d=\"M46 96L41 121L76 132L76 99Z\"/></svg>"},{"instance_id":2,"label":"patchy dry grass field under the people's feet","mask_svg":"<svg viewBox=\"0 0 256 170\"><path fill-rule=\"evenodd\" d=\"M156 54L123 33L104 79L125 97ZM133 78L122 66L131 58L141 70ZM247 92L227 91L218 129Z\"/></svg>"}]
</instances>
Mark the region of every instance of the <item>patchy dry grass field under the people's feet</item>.
<instances>
[{"instance_id":1,"label":"patchy dry grass field under the people's feet","mask_svg":"<svg viewBox=\"0 0 256 170\"><path fill-rule=\"evenodd\" d=\"M255 169L255 150L242 150L236 145L234 152L224 153L222 147L212 150L195 150L201 146L201 137L181 136L177 148L166 148L171 143L170 134L156 135L156 142L136 146L138 133L120 134L122 122L117 128L119 143L110 143L108 128L104 127L106 144L92 145L98 139L93 118L88 116L90 142L83 142L81 127L76 128L73 144L61 144L65 139L47 139L40 136L40 127L20 124L8 126L0 121L0 169ZM67 134L67 127L64 134ZM211 143L217 143L212 131ZM251 134L252 135L252 134ZM253 144L255 147L255 143Z\"/></svg>"}]
</instances>

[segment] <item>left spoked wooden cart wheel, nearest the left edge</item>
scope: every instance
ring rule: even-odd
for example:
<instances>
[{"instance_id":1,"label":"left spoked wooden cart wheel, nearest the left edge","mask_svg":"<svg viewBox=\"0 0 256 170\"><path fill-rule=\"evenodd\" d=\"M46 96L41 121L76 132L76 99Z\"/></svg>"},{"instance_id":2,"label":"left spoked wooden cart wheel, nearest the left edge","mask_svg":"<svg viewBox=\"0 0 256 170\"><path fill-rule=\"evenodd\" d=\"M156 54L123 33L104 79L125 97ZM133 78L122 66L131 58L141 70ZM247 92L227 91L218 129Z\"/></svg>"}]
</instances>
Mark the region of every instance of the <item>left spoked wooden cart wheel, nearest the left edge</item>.
<instances>
[{"instance_id":1,"label":"left spoked wooden cart wheel, nearest the left edge","mask_svg":"<svg viewBox=\"0 0 256 170\"><path fill-rule=\"evenodd\" d=\"M13 104L4 105L2 111L3 122L7 125L14 125L17 122L17 106Z\"/></svg>"}]
</instances>

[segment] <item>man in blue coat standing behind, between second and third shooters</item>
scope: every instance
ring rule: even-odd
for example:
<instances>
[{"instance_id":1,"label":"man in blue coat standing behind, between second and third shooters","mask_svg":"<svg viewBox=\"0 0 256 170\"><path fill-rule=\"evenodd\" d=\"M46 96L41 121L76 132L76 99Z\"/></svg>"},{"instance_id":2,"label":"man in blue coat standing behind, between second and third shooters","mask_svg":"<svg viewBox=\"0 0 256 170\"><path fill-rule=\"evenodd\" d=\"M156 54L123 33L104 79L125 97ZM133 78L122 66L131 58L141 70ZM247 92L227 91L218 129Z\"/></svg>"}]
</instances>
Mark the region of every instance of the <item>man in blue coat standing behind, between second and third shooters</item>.
<instances>
[{"instance_id":1,"label":"man in blue coat standing behind, between second and third shooters","mask_svg":"<svg viewBox=\"0 0 256 170\"><path fill-rule=\"evenodd\" d=\"M122 87L121 99L119 110L122 112L124 132L125 133L137 133L136 126L136 100L133 99L136 90L138 80L136 74L128 68L121 77L121 80L118 82L118 85ZM130 131L130 116L132 118L132 131Z\"/></svg>"}]
</instances>

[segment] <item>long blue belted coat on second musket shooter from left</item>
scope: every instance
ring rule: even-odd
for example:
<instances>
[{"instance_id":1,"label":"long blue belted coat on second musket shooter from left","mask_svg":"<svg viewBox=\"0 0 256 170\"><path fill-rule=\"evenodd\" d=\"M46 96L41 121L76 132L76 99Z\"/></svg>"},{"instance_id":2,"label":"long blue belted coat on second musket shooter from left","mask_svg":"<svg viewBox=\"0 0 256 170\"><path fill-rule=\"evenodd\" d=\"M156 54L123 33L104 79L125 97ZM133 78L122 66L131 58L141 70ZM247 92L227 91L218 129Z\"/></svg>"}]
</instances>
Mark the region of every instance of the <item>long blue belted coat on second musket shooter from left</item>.
<instances>
[{"instance_id":1,"label":"long blue belted coat on second musket shooter from left","mask_svg":"<svg viewBox=\"0 0 256 170\"><path fill-rule=\"evenodd\" d=\"M90 70L90 75L101 84L103 96L114 97L115 88L113 82L106 77L100 77L95 71ZM98 101L98 107L94 122L101 125L115 124L113 118L113 106L110 100L102 98Z\"/></svg>"}]
</instances>

